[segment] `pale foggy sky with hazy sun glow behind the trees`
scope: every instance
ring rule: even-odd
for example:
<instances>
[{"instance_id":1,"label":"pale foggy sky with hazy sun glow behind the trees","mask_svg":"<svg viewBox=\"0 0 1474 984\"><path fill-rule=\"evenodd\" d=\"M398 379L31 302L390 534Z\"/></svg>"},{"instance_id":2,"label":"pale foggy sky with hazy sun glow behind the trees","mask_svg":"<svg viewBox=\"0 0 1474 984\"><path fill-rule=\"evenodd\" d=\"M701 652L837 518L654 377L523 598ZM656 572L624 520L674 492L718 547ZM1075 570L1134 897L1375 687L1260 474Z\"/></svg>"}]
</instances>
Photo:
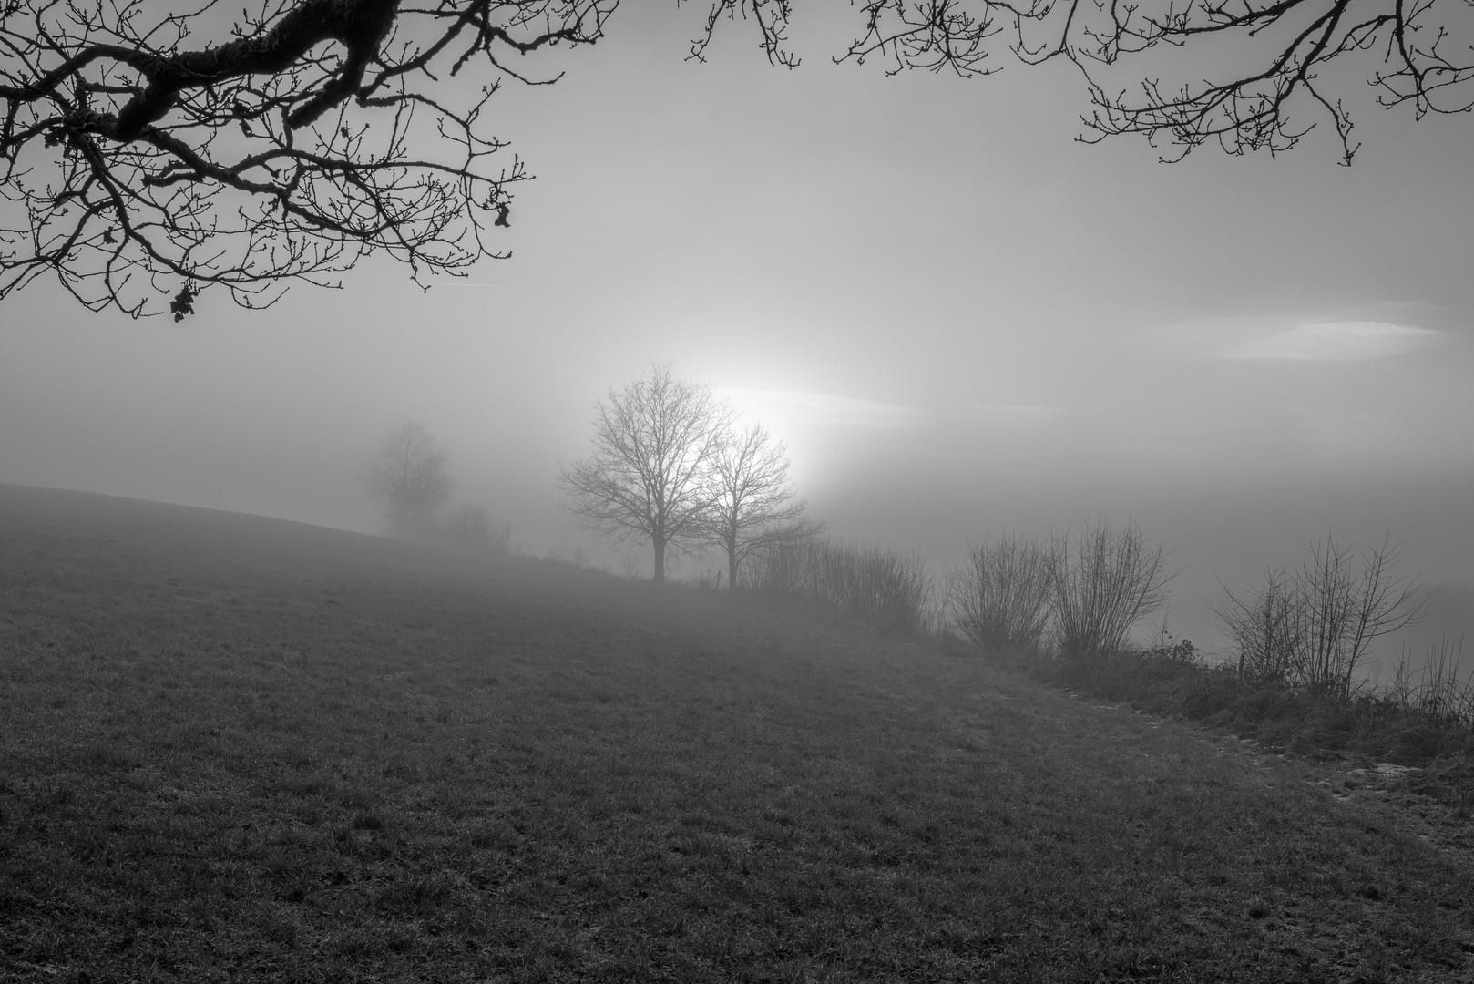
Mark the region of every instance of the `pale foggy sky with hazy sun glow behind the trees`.
<instances>
[{"instance_id":1,"label":"pale foggy sky with hazy sun glow behind the trees","mask_svg":"<svg viewBox=\"0 0 1474 984\"><path fill-rule=\"evenodd\" d=\"M354 475L416 419L514 540L594 550L559 465L607 387L669 360L787 441L837 536L946 564L1134 519L1191 637L1219 580L1328 530L1474 581L1467 117L1353 87L1355 167L1328 133L1160 165L1076 143L1064 71L884 78L805 21L797 71L741 24L696 65L694 13L622 9L560 83L497 96L538 180L514 257L467 282L367 263L264 314L208 292L181 325L49 285L0 304L0 481L377 530Z\"/></svg>"}]
</instances>

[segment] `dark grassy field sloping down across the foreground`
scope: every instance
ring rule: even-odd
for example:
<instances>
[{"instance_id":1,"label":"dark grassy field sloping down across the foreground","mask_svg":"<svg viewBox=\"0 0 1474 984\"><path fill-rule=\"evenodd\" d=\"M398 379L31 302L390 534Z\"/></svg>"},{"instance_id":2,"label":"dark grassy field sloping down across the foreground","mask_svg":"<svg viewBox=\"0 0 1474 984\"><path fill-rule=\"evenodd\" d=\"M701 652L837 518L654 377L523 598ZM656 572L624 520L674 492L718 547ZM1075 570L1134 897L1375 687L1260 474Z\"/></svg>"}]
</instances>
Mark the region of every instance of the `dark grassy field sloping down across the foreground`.
<instances>
[{"instance_id":1,"label":"dark grassy field sloping down across the foreground","mask_svg":"<svg viewBox=\"0 0 1474 984\"><path fill-rule=\"evenodd\" d=\"M4 981L1474 981L1384 800L774 603L0 485Z\"/></svg>"}]
</instances>

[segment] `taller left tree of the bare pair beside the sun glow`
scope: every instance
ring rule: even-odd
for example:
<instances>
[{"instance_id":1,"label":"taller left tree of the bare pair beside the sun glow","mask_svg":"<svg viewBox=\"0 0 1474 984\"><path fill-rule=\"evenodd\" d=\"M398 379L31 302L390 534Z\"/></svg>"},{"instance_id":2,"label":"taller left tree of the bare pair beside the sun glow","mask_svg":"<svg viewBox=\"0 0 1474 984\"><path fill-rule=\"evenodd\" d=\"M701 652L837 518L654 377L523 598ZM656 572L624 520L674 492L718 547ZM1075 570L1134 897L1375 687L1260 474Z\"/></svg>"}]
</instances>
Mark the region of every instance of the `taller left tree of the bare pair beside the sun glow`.
<instances>
[{"instance_id":1,"label":"taller left tree of the bare pair beside the sun glow","mask_svg":"<svg viewBox=\"0 0 1474 984\"><path fill-rule=\"evenodd\" d=\"M699 541L716 499L712 463L731 409L710 387L653 366L594 407L593 453L560 471L567 507L603 536L650 540L654 583L665 583L666 549Z\"/></svg>"}]
</instances>

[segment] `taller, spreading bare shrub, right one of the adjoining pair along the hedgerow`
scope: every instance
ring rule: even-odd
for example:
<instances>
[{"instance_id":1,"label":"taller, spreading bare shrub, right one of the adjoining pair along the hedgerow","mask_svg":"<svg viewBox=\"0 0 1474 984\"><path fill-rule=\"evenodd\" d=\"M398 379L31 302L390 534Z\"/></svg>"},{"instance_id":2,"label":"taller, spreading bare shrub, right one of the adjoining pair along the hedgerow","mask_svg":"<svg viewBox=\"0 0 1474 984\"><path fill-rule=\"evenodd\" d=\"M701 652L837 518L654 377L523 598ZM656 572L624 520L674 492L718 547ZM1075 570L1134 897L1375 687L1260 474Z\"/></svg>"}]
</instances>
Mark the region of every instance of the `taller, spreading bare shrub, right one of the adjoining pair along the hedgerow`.
<instances>
[{"instance_id":1,"label":"taller, spreading bare shrub, right one of the adjoining pair along the hedgerow","mask_svg":"<svg viewBox=\"0 0 1474 984\"><path fill-rule=\"evenodd\" d=\"M1131 630L1170 597L1173 572L1160 544L1135 524L1086 522L1051 537L1055 642L1061 655L1114 655Z\"/></svg>"}]
</instances>

